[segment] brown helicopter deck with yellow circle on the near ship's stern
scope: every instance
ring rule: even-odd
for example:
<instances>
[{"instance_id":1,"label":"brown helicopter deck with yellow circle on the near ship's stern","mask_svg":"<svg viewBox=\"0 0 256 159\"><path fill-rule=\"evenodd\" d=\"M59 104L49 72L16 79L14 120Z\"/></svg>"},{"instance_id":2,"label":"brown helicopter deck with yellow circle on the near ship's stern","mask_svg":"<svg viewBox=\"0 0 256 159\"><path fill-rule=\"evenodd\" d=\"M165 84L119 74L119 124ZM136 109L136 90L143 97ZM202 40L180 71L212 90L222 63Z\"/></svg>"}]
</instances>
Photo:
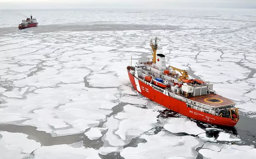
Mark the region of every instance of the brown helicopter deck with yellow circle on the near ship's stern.
<instances>
[{"instance_id":1,"label":"brown helicopter deck with yellow circle on the near ship's stern","mask_svg":"<svg viewBox=\"0 0 256 159\"><path fill-rule=\"evenodd\" d=\"M234 104L234 102L232 102L231 100L225 97L222 97L220 95L213 95L213 94L190 97L188 99L202 103L202 104L210 105L212 107L221 107L225 105Z\"/></svg>"}]
</instances>

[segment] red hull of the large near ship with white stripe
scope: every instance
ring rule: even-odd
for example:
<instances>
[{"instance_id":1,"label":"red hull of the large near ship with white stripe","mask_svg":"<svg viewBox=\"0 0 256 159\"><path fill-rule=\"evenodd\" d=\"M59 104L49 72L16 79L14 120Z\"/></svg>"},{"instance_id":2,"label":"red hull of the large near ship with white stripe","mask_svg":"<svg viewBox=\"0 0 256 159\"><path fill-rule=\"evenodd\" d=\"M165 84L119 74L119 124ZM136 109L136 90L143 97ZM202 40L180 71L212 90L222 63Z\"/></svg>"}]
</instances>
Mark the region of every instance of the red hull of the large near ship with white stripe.
<instances>
[{"instance_id":1,"label":"red hull of the large near ship with white stripe","mask_svg":"<svg viewBox=\"0 0 256 159\"><path fill-rule=\"evenodd\" d=\"M189 118L196 119L198 121L203 121L205 123L210 123L219 126L235 126L238 121L232 120L231 118L223 118L216 115L211 115L208 113L195 110L193 108L187 107L186 103L170 96L163 94L157 90L154 90L150 85L145 84L138 80L137 85L135 82L135 77L128 71L129 79L135 90L140 88L141 92L138 91L141 95L153 100L160 105L169 108L175 112L178 112L182 115L185 115Z\"/></svg>"}]
</instances>

